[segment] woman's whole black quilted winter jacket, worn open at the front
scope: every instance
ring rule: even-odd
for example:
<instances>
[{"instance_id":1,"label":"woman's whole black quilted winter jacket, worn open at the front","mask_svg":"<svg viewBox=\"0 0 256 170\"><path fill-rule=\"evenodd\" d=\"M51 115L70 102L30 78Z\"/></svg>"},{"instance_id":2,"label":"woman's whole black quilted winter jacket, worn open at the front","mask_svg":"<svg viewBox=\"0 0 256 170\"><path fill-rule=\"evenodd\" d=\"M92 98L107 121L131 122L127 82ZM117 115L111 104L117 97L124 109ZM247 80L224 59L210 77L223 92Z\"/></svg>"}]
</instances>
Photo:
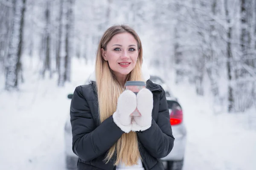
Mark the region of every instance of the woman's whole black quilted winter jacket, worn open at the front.
<instances>
[{"instance_id":1,"label":"woman's whole black quilted winter jacket, worn open at the front","mask_svg":"<svg viewBox=\"0 0 256 170\"><path fill-rule=\"evenodd\" d=\"M153 94L152 125L137 132L139 150L145 170L164 170L160 158L173 147L174 137L170 125L165 91L160 85L147 81L146 88ZM116 170L113 161L103 161L107 151L124 133L113 117L100 123L96 82L76 87L70 106L73 152L79 157L78 170Z\"/></svg>"}]
</instances>

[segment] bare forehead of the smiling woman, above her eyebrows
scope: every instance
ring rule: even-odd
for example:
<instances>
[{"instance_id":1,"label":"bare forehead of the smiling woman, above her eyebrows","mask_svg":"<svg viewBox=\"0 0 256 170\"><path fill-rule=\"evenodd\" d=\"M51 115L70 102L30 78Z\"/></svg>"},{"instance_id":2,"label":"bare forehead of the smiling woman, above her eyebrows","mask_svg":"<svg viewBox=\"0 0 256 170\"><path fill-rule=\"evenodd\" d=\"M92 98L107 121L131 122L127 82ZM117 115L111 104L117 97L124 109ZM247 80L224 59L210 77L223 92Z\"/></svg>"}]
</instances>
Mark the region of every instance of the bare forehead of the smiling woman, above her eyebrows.
<instances>
[{"instance_id":1,"label":"bare forehead of the smiling woman, above her eyebrows","mask_svg":"<svg viewBox=\"0 0 256 170\"><path fill-rule=\"evenodd\" d=\"M137 41L130 33L116 34L112 37L108 45L120 44L120 45L137 45Z\"/></svg>"}]
</instances>

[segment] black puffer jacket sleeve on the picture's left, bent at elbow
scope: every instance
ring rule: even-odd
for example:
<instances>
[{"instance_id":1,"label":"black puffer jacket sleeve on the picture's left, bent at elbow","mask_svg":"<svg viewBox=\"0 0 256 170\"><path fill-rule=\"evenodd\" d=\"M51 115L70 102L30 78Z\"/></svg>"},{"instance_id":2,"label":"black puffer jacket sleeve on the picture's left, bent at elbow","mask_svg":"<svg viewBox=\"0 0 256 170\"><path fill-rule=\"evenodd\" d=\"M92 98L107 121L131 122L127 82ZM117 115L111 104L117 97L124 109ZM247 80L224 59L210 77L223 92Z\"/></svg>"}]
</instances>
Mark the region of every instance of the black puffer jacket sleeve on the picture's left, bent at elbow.
<instances>
[{"instance_id":1,"label":"black puffer jacket sleeve on the picture's left, bent at elbow","mask_svg":"<svg viewBox=\"0 0 256 170\"><path fill-rule=\"evenodd\" d=\"M112 116L96 127L81 86L76 87L71 100L70 121L73 152L84 161L104 154L124 133L113 122Z\"/></svg>"}]
</instances>

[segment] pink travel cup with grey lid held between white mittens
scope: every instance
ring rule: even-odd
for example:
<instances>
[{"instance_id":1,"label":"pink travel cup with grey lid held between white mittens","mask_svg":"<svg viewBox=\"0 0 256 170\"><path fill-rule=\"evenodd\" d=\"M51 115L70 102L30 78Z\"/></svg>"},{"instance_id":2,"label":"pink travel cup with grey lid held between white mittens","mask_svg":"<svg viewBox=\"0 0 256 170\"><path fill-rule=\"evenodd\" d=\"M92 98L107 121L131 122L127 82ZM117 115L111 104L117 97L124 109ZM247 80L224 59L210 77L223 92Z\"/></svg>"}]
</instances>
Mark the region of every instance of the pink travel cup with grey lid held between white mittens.
<instances>
[{"instance_id":1,"label":"pink travel cup with grey lid held between white mittens","mask_svg":"<svg viewBox=\"0 0 256 170\"><path fill-rule=\"evenodd\" d=\"M125 90L130 90L134 92L136 95L143 88L146 88L146 83L143 81L127 81L125 83ZM141 114L136 108L135 111L131 113L130 116L141 116Z\"/></svg>"}]
</instances>

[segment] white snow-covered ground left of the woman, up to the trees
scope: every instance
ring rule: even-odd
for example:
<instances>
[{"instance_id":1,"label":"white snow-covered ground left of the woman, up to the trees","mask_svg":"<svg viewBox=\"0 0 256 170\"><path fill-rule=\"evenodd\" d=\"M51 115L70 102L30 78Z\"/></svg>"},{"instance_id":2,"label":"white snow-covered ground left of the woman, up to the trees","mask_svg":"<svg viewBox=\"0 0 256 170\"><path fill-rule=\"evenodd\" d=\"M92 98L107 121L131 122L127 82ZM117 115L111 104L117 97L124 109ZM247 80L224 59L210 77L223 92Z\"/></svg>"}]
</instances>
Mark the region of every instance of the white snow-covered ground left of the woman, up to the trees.
<instances>
[{"instance_id":1,"label":"white snow-covered ground left of the woman, up to the trees","mask_svg":"<svg viewBox=\"0 0 256 170\"><path fill-rule=\"evenodd\" d=\"M27 67L20 91L8 93L0 88L0 170L65 167L64 123L70 107L67 94L73 93L93 68L73 60L73 81L57 88L58 77L39 79L38 74L29 71L33 66Z\"/></svg>"}]
</instances>

